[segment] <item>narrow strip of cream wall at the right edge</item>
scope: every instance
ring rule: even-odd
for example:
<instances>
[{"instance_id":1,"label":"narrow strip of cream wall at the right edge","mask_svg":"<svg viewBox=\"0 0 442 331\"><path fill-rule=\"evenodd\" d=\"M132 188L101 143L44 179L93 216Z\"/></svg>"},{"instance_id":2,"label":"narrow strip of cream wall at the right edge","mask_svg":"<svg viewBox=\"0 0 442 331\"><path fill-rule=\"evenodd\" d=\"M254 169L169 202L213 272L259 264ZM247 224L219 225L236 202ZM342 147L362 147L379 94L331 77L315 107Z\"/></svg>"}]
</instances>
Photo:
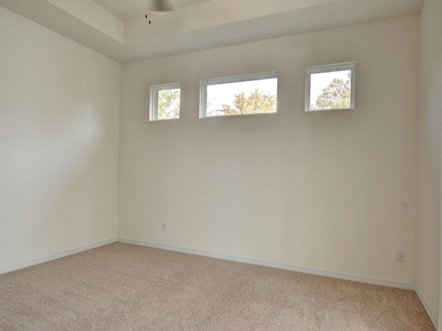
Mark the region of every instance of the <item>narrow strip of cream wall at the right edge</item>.
<instances>
[{"instance_id":1,"label":"narrow strip of cream wall at the right edge","mask_svg":"<svg viewBox=\"0 0 442 331\"><path fill-rule=\"evenodd\" d=\"M416 290L435 321L441 281L441 62L442 1L426 0L421 10Z\"/></svg>"}]
</instances>

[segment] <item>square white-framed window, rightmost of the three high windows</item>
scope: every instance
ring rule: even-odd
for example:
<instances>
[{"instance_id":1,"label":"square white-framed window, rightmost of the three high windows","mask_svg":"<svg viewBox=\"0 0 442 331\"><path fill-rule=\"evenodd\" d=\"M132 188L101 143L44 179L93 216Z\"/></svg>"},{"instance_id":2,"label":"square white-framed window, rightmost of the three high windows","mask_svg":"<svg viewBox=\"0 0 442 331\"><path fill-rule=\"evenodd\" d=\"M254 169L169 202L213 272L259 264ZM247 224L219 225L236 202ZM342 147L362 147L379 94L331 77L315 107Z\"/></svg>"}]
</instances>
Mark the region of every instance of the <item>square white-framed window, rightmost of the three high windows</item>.
<instances>
[{"instance_id":1,"label":"square white-framed window, rightmost of the three high windows","mask_svg":"<svg viewBox=\"0 0 442 331\"><path fill-rule=\"evenodd\" d=\"M355 62L307 67L305 111L354 109Z\"/></svg>"}]
</instances>

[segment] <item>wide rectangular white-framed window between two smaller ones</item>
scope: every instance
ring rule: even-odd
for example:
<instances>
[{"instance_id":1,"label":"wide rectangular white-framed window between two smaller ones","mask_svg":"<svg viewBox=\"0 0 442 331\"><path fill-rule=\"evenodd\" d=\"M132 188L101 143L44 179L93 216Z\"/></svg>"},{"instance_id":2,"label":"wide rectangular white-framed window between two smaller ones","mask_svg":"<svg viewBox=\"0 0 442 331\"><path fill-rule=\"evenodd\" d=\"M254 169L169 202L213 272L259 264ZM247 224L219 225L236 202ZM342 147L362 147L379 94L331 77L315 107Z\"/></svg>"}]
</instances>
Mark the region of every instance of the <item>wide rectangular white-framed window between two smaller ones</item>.
<instances>
[{"instance_id":1,"label":"wide rectangular white-framed window between two smaller ones","mask_svg":"<svg viewBox=\"0 0 442 331\"><path fill-rule=\"evenodd\" d=\"M200 119L275 113L277 101L278 72L200 81Z\"/></svg>"}]
</instances>

